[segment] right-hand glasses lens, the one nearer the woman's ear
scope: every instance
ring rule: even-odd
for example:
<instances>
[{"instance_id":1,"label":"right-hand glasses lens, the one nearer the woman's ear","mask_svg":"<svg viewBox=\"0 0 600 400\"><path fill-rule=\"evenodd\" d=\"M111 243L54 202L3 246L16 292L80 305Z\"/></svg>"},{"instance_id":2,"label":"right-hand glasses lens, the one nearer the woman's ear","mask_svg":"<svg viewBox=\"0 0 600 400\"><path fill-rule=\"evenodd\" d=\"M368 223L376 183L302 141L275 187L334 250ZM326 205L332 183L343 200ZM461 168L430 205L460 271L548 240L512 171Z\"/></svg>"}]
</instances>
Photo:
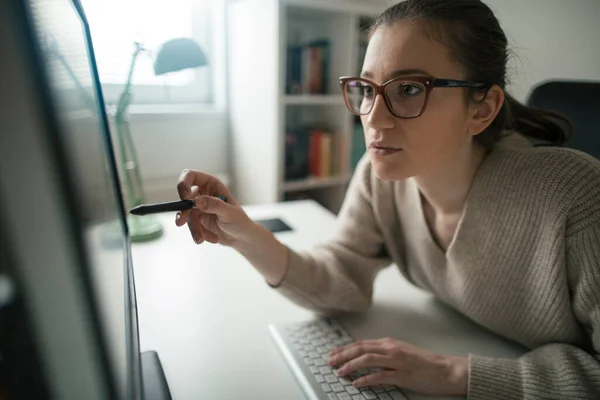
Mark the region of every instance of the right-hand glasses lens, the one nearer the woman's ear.
<instances>
[{"instance_id":1,"label":"right-hand glasses lens, the one nearer the woman's ear","mask_svg":"<svg viewBox=\"0 0 600 400\"><path fill-rule=\"evenodd\" d=\"M420 82L397 81L386 86L385 95L398 117L416 117L425 105L426 87Z\"/></svg>"}]
</instances>

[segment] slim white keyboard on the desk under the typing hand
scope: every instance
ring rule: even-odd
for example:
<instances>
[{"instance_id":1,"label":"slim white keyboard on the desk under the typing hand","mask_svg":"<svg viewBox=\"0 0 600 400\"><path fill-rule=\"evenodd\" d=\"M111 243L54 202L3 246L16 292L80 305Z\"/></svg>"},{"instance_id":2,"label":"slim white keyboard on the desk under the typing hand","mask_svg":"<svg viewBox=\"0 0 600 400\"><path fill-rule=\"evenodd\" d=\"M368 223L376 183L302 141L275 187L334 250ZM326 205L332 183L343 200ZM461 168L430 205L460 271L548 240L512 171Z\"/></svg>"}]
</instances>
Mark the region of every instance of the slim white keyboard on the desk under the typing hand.
<instances>
[{"instance_id":1,"label":"slim white keyboard on the desk under the typing hand","mask_svg":"<svg viewBox=\"0 0 600 400\"><path fill-rule=\"evenodd\" d=\"M397 387L377 385L357 389L350 379L369 371L358 371L348 378L340 377L327 365L329 352L335 347L354 342L335 319L316 319L292 324L270 325L269 330L294 377L308 399L315 400L408 400Z\"/></svg>"}]
</instances>

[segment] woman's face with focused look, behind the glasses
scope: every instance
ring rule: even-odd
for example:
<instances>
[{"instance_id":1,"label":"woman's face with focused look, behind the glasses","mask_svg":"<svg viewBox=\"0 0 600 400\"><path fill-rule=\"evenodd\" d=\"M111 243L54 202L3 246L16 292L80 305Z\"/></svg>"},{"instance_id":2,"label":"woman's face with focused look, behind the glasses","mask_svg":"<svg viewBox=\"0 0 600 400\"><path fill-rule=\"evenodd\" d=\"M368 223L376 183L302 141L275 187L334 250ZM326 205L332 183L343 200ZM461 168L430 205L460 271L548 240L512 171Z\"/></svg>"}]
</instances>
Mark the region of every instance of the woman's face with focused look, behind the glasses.
<instances>
[{"instance_id":1,"label":"woman's face with focused look, behind the glasses","mask_svg":"<svg viewBox=\"0 0 600 400\"><path fill-rule=\"evenodd\" d=\"M399 76L464 80L464 72L449 51L429 39L418 23L380 27L369 42L361 76L380 85ZM403 72L409 70L421 72ZM472 146L465 90L433 88L424 112L413 119L394 117L384 99L376 97L373 109L361 120L367 152L380 179L435 173Z\"/></svg>"}]
</instances>

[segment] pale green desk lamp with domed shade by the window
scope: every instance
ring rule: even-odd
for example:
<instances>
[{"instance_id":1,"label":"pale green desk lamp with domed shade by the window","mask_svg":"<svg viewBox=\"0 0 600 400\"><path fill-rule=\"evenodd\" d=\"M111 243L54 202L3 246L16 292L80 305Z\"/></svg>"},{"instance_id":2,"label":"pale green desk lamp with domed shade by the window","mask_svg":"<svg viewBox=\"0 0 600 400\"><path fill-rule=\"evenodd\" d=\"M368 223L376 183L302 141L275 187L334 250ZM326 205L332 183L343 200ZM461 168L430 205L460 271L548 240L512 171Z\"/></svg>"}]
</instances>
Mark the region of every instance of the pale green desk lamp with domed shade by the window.
<instances>
[{"instance_id":1,"label":"pale green desk lamp with domed shade by the window","mask_svg":"<svg viewBox=\"0 0 600 400\"><path fill-rule=\"evenodd\" d=\"M117 102L115 114L117 131L116 146L120 155L123 196L127 209L146 202L138 158L133 140L131 139L131 131L127 119L127 107L132 98L131 80L135 62L140 53L145 50L141 43L135 43L135 51L133 52L131 66L129 67L127 83ZM188 38L171 39L161 46L156 55L154 60L154 74L162 75L204 65L207 65L206 57L196 42ZM152 215L128 215L127 225L131 241L133 242L156 239L163 232L162 225Z\"/></svg>"}]
</instances>

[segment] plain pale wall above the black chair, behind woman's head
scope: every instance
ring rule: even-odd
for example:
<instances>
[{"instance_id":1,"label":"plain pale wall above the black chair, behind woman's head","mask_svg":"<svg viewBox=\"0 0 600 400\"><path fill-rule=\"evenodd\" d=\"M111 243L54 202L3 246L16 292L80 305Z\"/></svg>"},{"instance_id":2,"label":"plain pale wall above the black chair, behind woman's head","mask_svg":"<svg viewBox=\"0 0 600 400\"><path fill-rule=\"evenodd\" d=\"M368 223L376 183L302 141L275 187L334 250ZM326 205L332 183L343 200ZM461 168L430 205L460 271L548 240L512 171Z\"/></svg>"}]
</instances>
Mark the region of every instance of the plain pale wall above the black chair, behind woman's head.
<instances>
[{"instance_id":1,"label":"plain pale wall above the black chair, behind woman's head","mask_svg":"<svg viewBox=\"0 0 600 400\"><path fill-rule=\"evenodd\" d=\"M484 0L516 56L508 90L524 101L553 78L600 80L600 0Z\"/></svg>"}]
</instances>

